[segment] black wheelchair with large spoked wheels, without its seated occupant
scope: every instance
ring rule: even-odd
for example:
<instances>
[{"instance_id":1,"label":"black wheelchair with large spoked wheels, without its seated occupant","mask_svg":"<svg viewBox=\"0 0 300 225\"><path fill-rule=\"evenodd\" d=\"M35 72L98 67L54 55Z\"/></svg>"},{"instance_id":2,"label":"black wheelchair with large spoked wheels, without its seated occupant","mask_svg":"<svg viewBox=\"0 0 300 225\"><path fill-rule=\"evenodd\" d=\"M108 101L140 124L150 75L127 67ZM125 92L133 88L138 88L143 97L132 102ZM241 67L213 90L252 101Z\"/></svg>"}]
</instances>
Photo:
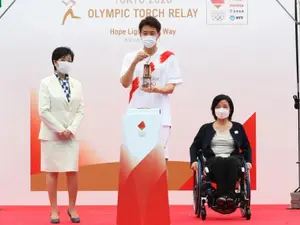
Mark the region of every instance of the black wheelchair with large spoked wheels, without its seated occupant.
<instances>
[{"instance_id":1,"label":"black wheelchair with large spoked wheels, without its seated occupant","mask_svg":"<svg viewBox=\"0 0 300 225\"><path fill-rule=\"evenodd\" d=\"M206 204L213 211L220 214L231 214L238 208L241 210L243 218L251 219L251 187L250 187L250 171L246 162L242 161L238 180L236 182L235 202L232 205L224 204L222 207L216 204L217 189L213 187L214 181L210 179L209 169L205 166L205 158L201 155L198 157L198 169L194 171L194 212L197 217L202 220L206 219Z\"/></svg>"}]
</instances>

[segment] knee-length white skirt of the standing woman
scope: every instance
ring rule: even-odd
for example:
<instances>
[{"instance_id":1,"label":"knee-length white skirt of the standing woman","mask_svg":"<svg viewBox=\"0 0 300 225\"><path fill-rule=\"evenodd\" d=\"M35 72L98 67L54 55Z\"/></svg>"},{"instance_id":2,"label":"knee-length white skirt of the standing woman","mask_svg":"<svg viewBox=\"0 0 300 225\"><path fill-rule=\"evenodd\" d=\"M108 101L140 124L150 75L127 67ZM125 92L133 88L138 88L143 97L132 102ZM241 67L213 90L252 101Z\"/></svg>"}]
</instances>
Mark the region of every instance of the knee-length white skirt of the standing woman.
<instances>
[{"instance_id":1,"label":"knee-length white skirt of the standing woman","mask_svg":"<svg viewBox=\"0 0 300 225\"><path fill-rule=\"evenodd\" d=\"M78 171L79 143L74 140L41 141L41 171Z\"/></svg>"}]
</instances>

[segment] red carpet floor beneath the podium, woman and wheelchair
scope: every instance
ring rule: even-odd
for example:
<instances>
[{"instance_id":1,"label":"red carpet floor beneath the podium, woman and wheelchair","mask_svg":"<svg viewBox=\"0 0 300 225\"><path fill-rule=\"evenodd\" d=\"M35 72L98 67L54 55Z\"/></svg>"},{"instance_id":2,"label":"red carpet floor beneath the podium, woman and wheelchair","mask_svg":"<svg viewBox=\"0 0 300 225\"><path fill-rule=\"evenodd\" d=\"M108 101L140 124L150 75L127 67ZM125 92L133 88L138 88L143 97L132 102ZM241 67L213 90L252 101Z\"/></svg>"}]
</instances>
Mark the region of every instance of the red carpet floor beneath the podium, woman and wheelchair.
<instances>
[{"instance_id":1,"label":"red carpet floor beneath the podium, woman and wheelchair","mask_svg":"<svg viewBox=\"0 0 300 225\"><path fill-rule=\"evenodd\" d=\"M0 225L44 225L49 223L49 208L45 206L8 206L0 211ZM60 208L61 223L71 224L66 207ZM113 206L79 206L82 225L115 225L116 207ZM250 225L299 225L300 211L286 210L286 206L253 206L250 221L241 217L240 211L223 216L212 211L207 212L206 221L193 215L192 206L171 206L172 225L199 225L199 224L250 224ZM134 225L134 224L130 224ZM153 224L159 225L159 224Z\"/></svg>"}]
</instances>

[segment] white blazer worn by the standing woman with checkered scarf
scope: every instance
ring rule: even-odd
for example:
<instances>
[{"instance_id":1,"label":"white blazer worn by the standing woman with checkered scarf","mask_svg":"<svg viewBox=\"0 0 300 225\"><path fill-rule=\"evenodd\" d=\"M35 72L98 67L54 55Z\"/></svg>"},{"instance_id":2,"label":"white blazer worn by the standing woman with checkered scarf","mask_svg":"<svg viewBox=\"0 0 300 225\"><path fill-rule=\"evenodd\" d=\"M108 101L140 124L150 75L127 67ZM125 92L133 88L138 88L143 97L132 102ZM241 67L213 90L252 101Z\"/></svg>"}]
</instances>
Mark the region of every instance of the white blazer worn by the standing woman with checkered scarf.
<instances>
[{"instance_id":1,"label":"white blazer worn by the standing woman with checkered scarf","mask_svg":"<svg viewBox=\"0 0 300 225\"><path fill-rule=\"evenodd\" d=\"M76 130L84 115L82 86L70 77L71 98L66 94L55 74L41 81L39 90L39 114L41 117L40 140L60 140L59 133L68 129L76 140Z\"/></svg>"}]
</instances>

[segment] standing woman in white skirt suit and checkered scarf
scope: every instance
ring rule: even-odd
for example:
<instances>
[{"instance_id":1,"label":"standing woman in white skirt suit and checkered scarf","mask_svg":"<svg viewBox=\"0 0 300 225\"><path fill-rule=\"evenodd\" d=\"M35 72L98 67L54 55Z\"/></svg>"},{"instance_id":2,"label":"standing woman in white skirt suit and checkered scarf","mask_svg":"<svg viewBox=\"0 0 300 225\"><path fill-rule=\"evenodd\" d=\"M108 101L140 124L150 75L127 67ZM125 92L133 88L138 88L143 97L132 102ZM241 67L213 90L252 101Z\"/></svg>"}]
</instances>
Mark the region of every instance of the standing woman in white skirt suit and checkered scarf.
<instances>
[{"instance_id":1,"label":"standing woman in white skirt suit and checkered scarf","mask_svg":"<svg viewBox=\"0 0 300 225\"><path fill-rule=\"evenodd\" d=\"M59 47L52 53L54 73L44 78L39 90L41 128L41 170L46 172L51 223L60 223L57 207L57 179L59 172L66 172L69 192L68 215L79 223L76 212L77 171L79 143L76 130L84 114L81 83L70 77L74 60L71 49Z\"/></svg>"}]
</instances>

